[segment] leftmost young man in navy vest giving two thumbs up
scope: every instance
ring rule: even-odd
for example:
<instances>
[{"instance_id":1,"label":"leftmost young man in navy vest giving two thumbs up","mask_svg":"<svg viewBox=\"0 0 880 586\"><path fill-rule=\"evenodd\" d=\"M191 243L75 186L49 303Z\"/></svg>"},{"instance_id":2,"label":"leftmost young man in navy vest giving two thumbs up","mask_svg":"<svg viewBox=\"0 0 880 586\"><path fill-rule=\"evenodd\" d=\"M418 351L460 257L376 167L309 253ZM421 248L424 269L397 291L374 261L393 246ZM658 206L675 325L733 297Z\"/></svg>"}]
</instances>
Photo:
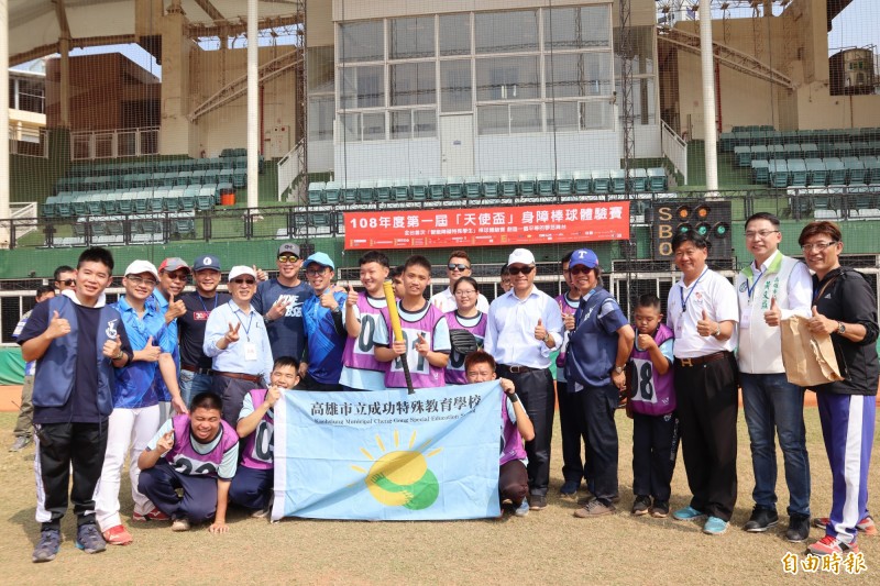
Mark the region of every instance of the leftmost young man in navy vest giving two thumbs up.
<instances>
[{"instance_id":1,"label":"leftmost young man in navy vest giving two thumbs up","mask_svg":"<svg viewBox=\"0 0 880 586\"><path fill-rule=\"evenodd\" d=\"M105 297L112 279L110 252L87 248L77 263L76 289L38 303L18 339L24 361L37 361L34 467L42 529L34 562L51 562L58 553L72 471L76 546L86 553L107 549L95 523L94 495L107 450L116 369L133 355L119 310Z\"/></svg>"}]
</instances>

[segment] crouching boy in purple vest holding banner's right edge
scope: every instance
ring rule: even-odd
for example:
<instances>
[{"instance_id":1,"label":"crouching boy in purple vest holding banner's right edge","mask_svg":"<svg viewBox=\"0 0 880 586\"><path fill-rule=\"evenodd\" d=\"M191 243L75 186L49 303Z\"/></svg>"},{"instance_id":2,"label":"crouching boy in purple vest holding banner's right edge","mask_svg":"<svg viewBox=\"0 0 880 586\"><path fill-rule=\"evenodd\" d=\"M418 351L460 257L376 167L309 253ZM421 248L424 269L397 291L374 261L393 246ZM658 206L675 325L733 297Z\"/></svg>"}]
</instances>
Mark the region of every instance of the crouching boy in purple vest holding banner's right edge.
<instances>
[{"instance_id":1,"label":"crouching boy in purple vest holding banner's right edge","mask_svg":"<svg viewBox=\"0 0 880 586\"><path fill-rule=\"evenodd\" d=\"M495 358L482 350L468 354L464 358L464 372L470 384L486 383L498 376L495 374ZM528 457L522 441L530 442L535 439L535 428L516 395L513 382L502 378L501 385L505 398L502 401L498 495L502 502L510 501L514 515L525 517L529 513L529 502L526 500L526 494L529 491L529 478L526 472Z\"/></svg>"}]
</instances>

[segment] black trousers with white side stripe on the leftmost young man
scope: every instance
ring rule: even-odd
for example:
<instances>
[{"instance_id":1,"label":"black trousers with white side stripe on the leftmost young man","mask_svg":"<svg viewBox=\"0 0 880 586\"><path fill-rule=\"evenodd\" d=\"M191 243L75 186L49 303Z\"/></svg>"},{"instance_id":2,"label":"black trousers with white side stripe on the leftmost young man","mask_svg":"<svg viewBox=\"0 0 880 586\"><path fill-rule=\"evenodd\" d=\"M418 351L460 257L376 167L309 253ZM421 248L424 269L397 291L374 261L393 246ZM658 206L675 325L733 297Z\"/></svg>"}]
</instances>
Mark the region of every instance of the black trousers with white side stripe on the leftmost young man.
<instances>
[{"instance_id":1,"label":"black trousers with white side stripe on the leftmost young man","mask_svg":"<svg viewBox=\"0 0 880 586\"><path fill-rule=\"evenodd\" d=\"M59 529L70 500L77 526L95 522L95 487L107 451L107 420L100 423L43 423L36 436L36 520L42 529Z\"/></svg>"}]
</instances>

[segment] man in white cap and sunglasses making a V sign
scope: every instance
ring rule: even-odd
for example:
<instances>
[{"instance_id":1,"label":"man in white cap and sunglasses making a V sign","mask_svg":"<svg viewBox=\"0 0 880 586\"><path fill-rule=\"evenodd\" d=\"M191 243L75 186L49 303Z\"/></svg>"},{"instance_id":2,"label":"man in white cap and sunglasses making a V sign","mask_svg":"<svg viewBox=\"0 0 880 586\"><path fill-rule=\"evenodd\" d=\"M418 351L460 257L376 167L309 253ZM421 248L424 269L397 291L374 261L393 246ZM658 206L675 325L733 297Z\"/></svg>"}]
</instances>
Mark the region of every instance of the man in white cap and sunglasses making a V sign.
<instances>
[{"instance_id":1,"label":"man in white cap and sunglasses making a V sign","mask_svg":"<svg viewBox=\"0 0 880 586\"><path fill-rule=\"evenodd\" d=\"M213 358L211 390L223 398L223 420L234 428L248 391L268 386L273 358L266 324L251 305L256 292L254 269L233 266L229 292L232 299L208 317L202 350Z\"/></svg>"}]
</instances>

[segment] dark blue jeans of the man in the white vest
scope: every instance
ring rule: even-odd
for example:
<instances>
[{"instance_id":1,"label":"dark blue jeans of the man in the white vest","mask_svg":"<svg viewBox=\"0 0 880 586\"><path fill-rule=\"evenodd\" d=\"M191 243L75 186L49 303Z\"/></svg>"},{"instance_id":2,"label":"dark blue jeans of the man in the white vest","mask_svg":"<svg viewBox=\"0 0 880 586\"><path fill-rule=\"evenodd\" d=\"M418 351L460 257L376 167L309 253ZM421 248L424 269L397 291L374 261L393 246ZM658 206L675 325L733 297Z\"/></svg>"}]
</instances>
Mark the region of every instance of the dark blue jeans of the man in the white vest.
<instances>
[{"instance_id":1,"label":"dark blue jeans of the man in the white vest","mask_svg":"<svg viewBox=\"0 0 880 586\"><path fill-rule=\"evenodd\" d=\"M810 458L804 428L804 389L780 374L740 373L743 407L751 440L755 471L752 498L759 507L777 508L777 447L774 430L789 486L789 516L810 516Z\"/></svg>"}]
</instances>

